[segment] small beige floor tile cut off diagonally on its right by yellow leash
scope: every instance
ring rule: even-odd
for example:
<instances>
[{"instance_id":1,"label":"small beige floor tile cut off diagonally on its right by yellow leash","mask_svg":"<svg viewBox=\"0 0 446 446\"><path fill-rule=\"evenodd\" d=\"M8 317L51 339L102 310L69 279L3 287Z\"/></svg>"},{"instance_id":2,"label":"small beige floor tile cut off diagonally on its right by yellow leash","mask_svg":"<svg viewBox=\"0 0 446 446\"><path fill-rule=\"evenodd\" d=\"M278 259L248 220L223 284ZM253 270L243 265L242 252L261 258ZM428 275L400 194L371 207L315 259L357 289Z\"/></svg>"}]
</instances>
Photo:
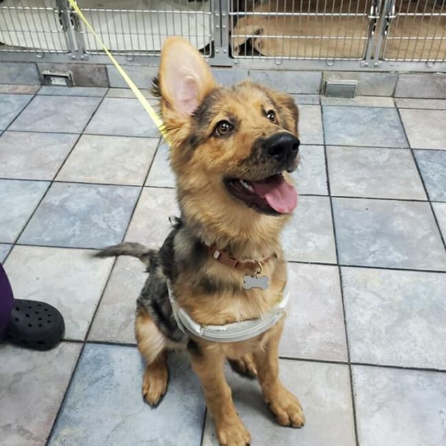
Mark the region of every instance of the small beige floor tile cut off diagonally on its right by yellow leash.
<instances>
[{"instance_id":1,"label":"small beige floor tile cut off diagonally on its right by yellow leash","mask_svg":"<svg viewBox=\"0 0 446 446\"><path fill-rule=\"evenodd\" d=\"M138 99L106 97L86 133L128 137L158 137L158 130Z\"/></svg>"}]
</instances>

